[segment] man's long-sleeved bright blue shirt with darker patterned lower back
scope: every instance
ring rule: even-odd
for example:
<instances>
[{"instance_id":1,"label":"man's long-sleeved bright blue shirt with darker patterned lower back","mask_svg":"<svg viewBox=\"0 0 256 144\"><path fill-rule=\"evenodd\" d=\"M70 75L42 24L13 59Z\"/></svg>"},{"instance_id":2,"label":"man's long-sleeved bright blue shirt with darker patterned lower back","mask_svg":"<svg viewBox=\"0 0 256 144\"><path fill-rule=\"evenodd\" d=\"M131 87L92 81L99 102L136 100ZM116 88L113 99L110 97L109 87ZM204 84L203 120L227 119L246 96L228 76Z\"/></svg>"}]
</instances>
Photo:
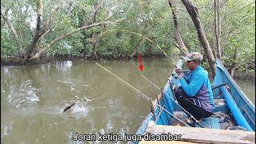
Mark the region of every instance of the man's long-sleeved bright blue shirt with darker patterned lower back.
<instances>
[{"instance_id":1,"label":"man's long-sleeved bright blue shirt with darker patterned lower back","mask_svg":"<svg viewBox=\"0 0 256 144\"><path fill-rule=\"evenodd\" d=\"M213 112L215 109L213 91L211 90L208 72L202 66L198 66L191 71L189 77L180 78L180 82L188 97L198 99L203 109Z\"/></svg>"}]
</instances>

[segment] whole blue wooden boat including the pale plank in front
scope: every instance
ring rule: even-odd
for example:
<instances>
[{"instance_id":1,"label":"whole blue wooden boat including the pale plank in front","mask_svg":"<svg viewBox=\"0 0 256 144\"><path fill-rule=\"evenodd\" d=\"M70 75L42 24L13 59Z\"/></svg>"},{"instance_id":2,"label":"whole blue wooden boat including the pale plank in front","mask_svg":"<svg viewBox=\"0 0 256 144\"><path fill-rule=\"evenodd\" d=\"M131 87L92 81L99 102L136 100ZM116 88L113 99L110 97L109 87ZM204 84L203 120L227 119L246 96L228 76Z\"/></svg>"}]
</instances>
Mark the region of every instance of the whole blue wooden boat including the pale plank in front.
<instances>
[{"instance_id":1,"label":"whole blue wooden boat including the pale plank in front","mask_svg":"<svg viewBox=\"0 0 256 144\"><path fill-rule=\"evenodd\" d=\"M150 140L153 142L157 138L177 140L170 137L161 139L160 134L169 134L172 138L181 134L178 139L180 141L174 142L255 143L255 106L234 82L222 63L218 60L216 63L217 71L212 83L216 108L210 118L203 118L195 127L181 126L182 123L178 122L177 118L184 121L187 114L178 106L174 97L174 87L180 86L180 82L174 76L170 76L162 93L152 102L150 113L146 115L136 132L143 135L144 139L134 143L150 143ZM154 137L150 139L149 135Z\"/></svg>"}]
</instances>

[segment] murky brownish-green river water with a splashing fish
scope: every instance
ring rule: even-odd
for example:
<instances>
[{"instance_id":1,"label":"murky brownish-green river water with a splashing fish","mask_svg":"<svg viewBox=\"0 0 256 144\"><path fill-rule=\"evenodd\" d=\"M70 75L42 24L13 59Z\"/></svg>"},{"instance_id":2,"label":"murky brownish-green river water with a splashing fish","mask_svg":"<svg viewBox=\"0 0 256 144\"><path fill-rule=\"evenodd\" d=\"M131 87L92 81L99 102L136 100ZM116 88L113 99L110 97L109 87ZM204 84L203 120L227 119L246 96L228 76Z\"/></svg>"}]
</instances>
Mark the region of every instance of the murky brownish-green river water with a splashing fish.
<instances>
[{"instance_id":1,"label":"murky brownish-green river water with a splashing fish","mask_svg":"<svg viewBox=\"0 0 256 144\"><path fill-rule=\"evenodd\" d=\"M159 90L141 74L163 87L174 70L166 59L143 59L143 72L137 60L99 63L153 99ZM238 83L255 103L255 83ZM1 143L81 143L73 141L76 133L134 134L149 111L138 92L92 61L1 66Z\"/></svg>"}]
</instances>

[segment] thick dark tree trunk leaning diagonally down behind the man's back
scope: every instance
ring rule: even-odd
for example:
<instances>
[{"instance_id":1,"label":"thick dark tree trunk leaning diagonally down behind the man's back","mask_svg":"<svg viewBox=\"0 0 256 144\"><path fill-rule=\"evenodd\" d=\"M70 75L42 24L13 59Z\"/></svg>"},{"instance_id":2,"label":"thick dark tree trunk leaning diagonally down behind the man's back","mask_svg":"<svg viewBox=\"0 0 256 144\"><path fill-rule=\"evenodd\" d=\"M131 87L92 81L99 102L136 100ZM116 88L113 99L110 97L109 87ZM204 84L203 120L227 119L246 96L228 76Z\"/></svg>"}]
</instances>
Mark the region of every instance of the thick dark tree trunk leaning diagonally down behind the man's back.
<instances>
[{"instance_id":1,"label":"thick dark tree trunk leaning diagonally down behind the man's back","mask_svg":"<svg viewBox=\"0 0 256 144\"><path fill-rule=\"evenodd\" d=\"M214 59L214 54L212 53L212 50L210 48L210 44L206 38L206 34L204 30L202 29L202 23L199 19L199 12L197 7L195 7L190 0L182 0L183 5L186 7L187 12L190 14L190 17L192 18L192 21L194 22L194 26L198 32L198 40L201 43L205 53L206 57L208 59L208 62L210 64L210 70L213 74L213 77L216 74L216 63Z\"/></svg>"}]
</instances>

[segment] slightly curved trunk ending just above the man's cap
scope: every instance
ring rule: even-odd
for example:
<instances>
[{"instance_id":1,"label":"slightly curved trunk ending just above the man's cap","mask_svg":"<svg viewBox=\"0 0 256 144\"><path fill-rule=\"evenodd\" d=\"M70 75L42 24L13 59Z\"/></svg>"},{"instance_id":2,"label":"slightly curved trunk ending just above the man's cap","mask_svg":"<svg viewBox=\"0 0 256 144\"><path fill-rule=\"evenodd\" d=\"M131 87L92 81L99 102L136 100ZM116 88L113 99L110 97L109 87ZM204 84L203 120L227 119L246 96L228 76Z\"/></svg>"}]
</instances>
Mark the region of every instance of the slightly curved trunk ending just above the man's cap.
<instances>
[{"instance_id":1,"label":"slightly curved trunk ending just above the man's cap","mask_svg":"<svg viewBox=\"0 0 256 144\"><path fill-rule=\"evenodd\" d=\"M176 15L176 11L174 10L175 7L173 5L173 2L172 0L168 0L168 3L170 5L170 9L172 11L172 14L173 14L173 20L174 20L174 37L175 37L175 40L176 42L178 43L178 47L179 47L179 50L182 52L182 54L184 56L186 56L188 54L188 50L186 49L186 46L184 44L184 42L182 41L182 36L181 36L181 33L179 31L179 28L178 28L178 17Z\"/></svg>"}]
</instances>

